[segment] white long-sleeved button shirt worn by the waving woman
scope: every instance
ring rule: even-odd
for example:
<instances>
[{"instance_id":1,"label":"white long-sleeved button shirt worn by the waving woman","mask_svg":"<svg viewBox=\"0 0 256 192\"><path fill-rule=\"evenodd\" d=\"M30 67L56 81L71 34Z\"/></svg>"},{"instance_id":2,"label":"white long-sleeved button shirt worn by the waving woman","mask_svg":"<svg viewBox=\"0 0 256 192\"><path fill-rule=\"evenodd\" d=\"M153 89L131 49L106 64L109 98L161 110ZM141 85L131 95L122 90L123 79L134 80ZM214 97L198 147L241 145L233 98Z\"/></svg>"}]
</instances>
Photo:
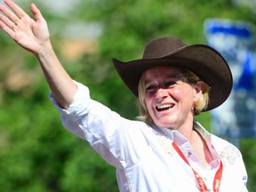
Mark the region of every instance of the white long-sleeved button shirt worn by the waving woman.
<instances>
[{"instance_id":1,"label":"white long-sleeved button shirt worn by the waving woman","mask_svg":"<svg viewBox=\"0 0 256 192\"><path fill-rule=\"evenodd\" d=\"M212 181L223 163L220 191L247 191L247 173L240 151L194 123L212 152L214 160L203 167L188 140L180 132L132 121L90 98L89 90L76 83L78 90L68 110L60 108L62 124L78 137L87 140L109 164L116 167L116 180L121 192L199 191L195 175L172 148L173 140L199 172L212 191Z\"/></svg>"}]
</instances>

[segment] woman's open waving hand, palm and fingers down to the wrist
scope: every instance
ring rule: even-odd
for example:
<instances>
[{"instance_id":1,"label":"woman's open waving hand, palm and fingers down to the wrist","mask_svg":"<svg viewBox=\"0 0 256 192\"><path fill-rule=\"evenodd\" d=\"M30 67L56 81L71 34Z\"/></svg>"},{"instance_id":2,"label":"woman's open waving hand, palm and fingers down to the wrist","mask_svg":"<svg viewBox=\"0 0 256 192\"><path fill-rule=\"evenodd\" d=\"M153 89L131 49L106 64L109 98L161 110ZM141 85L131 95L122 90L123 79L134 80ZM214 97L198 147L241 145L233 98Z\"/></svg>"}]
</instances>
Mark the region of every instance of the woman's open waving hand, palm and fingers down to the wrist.
<instances>
[{"instance_id":1,"label":"woman's open waving hand, palm and fingers down to the wrist","mask_svg":"<svg viewBox=\"0 0 256 192\"><path fill-rule=\"evenodd\" d=\"M12 11L0 4L0 28L24 49L34 54L40 52L49 43L50 35L47 23L36 5L30 5L34 15L32 19L12 0L4 0L4 3Z\"/></svg>"}]
</instances>

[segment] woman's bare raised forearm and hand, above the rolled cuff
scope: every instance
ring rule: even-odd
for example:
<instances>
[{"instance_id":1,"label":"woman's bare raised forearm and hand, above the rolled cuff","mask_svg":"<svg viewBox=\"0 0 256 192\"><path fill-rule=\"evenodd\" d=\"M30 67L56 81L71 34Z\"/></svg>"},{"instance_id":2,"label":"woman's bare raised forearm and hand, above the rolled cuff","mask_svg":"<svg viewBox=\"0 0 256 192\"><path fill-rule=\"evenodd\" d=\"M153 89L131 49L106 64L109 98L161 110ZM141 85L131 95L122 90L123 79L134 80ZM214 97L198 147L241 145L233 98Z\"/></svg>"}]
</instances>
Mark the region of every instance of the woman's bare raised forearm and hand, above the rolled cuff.
<instances>
[{"instance_id":1,"label":"woman's bare raised forearm and hand, above the rolled cuff","mask_svg":"<svg viewBox=\"0 0 256 192\"><path fill-rule=\"evenodd\" d=\"M21 47L32 52L44 71L52 93L62 108L68 108L76 94L76 84L61 66L52 49L47 23L35 4L30 5L34 18L30 18L12 0L0 4L0 28Z\"/></svg>"}]
</instances>

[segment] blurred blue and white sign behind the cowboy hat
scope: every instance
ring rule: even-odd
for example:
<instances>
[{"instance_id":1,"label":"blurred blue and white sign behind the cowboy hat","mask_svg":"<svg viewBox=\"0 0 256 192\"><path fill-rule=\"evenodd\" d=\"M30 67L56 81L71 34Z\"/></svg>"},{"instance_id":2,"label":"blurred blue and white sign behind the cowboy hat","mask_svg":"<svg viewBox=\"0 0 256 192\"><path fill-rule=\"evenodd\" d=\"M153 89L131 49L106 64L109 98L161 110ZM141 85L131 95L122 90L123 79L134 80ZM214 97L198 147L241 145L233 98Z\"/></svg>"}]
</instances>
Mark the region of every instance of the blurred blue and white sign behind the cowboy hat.
<instances>
[{"instance_id":1,"label":"blurred blue and white sign behind the cowboy hat","mask_svg":"<svg viewBox=\"0 0 256 192\"><path fill-rule=\"evenodd\" d=\"M233 75L228 100L211 111L212 131L229 138L256 134L255 52L252 25L243 21L205 20L206 43L227 60Z\"/></svg>"}]
</instances>

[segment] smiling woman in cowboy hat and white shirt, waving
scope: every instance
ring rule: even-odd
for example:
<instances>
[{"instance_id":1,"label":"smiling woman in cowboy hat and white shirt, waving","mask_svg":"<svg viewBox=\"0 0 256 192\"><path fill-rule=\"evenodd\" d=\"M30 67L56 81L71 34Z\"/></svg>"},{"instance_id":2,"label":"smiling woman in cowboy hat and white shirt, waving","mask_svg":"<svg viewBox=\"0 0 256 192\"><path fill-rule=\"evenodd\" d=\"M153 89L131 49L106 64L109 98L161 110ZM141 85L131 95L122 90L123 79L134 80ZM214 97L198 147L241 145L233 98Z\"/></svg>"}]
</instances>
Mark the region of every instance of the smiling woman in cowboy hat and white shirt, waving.
<instances>
[{"instance_id":1,"label":"smiling woman in cowboy hat and white shirt, waving","mask_svg":"<svg viewBox=\"0 0 256 192\"><path fill-rule=\"evenodd\" d=\"M140 121L119 116L90 98L68 76L52 50L47 24L11 0L0 5L0 28L36 55L65 127L87 140L116 167L120 191L247 191L239 150L194 120L227 100L232 76L226 61L206 45L164 37L149 42L143 59L116 70L140 99Z\"/></svg>"}]
</instances>

